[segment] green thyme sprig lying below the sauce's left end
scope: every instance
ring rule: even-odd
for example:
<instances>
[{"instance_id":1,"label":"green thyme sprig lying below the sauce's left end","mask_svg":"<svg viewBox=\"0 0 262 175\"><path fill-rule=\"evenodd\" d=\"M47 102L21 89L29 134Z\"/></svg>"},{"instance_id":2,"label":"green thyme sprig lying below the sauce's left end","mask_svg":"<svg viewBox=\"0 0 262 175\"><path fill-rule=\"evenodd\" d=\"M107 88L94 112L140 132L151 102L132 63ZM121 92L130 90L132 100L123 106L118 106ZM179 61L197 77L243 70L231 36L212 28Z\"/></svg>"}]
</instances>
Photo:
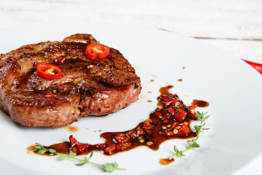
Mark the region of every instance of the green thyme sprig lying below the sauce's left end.
<instances>
[{"instance_id":1,"label":"green thyme sprig lying below the sauce's left end","mask_svg":"<svg viewBox=\"0 0 262 175\"><path fill-rule=\"evenodd\" d=\"M34 148L36 149L34 152L38 153L38 154L44 154L44 153L48 153L49 155L59 155L57 157L58 160L65 160L65 159L74 159L79 161L79 163L76 163L76 166L82 166L84 164L90 163L93 164L95 166L99 166L101 168L103 168L103 170L105 172L113 172L114 170L126 170L125 168L120 168L118 167L118 164L116 162L113 163L104 163L104 164L99 164L99 163L95 163L92 161L89 161L89 159L93 156L93 151L91 151L91 153L89 154L89 157L83 157L83 159L77 158L76 157L76 153L75 152L70 152L70 153L59 153L56 152L55 149L52 148L48 148L46 146L43 146L40 143L35 143L36 145L34 146Z\"/></svg>"}]
</instances>

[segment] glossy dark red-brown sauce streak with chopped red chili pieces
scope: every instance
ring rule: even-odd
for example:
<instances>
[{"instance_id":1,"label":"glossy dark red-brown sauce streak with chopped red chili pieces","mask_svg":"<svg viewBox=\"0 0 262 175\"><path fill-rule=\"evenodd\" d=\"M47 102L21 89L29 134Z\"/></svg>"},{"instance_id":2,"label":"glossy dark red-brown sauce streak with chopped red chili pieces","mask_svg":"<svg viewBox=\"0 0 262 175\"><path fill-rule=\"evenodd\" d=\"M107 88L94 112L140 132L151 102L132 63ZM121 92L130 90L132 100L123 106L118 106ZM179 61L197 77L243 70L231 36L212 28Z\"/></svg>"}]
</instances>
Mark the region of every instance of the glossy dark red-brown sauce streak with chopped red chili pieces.
<instances>
[{"instance_id":1,"label":"glossy dark red-brown sauce streak with chopped red chili pieces","mask_svg":"<svg viewBox=\"0 0 262 175\"><path fill-rule=\"evenodd\" d=\"M57 152L76 152L77 155L88 154L90 151L103 151L106 155L127 151L138 146L147 146L157 150L159 145L168 139L192 138L196 132L190 129L191 119L196 119L191 113L192 106L186 106L177 94L171 94L169 89L173 85L160 88L158 107L149 115L149 118L140 122L135 128L127 131L104 132L101 137L104 143L88 144L79 143L70 136L70 142L62 142L47 146ZM159 107L161 106L161 107ZM161 160L163 164L174 160Z\"/></svg>"}]
</instances>

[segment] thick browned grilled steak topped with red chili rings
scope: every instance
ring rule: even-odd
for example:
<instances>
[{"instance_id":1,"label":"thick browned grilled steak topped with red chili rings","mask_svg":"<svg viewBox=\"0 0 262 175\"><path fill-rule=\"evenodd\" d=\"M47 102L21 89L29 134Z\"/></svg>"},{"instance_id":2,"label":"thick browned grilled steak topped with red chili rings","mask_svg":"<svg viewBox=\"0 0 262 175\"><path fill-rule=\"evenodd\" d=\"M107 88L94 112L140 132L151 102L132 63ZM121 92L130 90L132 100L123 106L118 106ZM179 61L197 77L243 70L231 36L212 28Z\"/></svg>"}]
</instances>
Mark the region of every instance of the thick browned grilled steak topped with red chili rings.
<instances>
[{"instance_id":1,"label":"thick browned grilled steak topped with red chili rings","mask_svg":"<svg viewBox=\"0 0 262 175\"><path fill-rule=\"evenodd\" d=\"M28 44L1 54L0 108L25 126L61 127L79 115L114 113L135 102L141 90L135 69L114 48L106 58L88 58L90 43L97 43L91 34L74 34L62 42ZM56 63L58 56L65 62ZM58 65L62 77L38 76L39 63Z\"/></svg>"}]
</instances>

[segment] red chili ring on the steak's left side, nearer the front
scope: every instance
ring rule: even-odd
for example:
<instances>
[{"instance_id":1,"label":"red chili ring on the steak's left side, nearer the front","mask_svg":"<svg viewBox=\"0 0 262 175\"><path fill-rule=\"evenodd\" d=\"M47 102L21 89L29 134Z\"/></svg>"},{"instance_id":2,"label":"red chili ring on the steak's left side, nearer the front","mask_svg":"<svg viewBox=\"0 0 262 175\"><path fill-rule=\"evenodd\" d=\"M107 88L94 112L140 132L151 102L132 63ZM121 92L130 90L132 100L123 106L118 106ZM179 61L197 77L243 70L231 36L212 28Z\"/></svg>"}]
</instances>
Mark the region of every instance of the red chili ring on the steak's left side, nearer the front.
<instances>
[{"instance_id":1,"label":"red chili ring on the steak's left side, nearer the front","mask_svg":"<svg viewBox=\"0 0 262 175\"><path fill-rule=\"evenodd\" d=\"M36 73L46 79L57 79L62 76L62 70L54 64L40 63L36 67Z\"/></svg>"}]
</instances>

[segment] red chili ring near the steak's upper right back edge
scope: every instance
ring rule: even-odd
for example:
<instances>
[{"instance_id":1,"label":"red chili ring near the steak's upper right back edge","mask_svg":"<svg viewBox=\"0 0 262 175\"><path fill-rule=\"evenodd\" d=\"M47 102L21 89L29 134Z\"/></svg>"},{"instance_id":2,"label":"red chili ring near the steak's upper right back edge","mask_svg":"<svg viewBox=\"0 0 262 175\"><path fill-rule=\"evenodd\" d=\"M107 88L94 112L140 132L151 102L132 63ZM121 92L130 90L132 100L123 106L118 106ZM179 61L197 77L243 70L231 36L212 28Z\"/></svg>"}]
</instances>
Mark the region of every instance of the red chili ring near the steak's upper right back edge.
<instances>
[{"instance_id":1,"label":"red chili ring near the steak's upper right back edge","mask_svg":"<svg viewBox=\"0 0 262 175\"><path fill-rule=\"evenodd\" d=\"M109 47L100 43L91 43L86 46L85 54L91 58L105 58L109 55Z\"/></svg>"}]
</instances>

